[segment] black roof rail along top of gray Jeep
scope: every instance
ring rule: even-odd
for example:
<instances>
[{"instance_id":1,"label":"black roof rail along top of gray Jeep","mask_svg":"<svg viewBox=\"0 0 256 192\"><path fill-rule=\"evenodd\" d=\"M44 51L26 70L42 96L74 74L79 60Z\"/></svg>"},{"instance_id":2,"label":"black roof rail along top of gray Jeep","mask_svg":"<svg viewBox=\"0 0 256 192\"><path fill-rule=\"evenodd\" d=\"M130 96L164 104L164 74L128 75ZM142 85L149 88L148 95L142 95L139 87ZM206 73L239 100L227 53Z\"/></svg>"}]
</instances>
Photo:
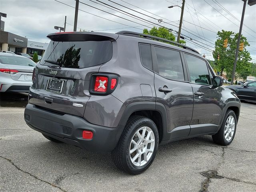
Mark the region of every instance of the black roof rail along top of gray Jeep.
<instances>
[{"instance_id":1,"label":"black roof rail along top of gray Jeep","mask_svg":"<svg viewBox=\"0 0 256 192\"><path fill-rule=\"evenodd\" d=\"M167 40L167 39L164 39L164 38L160 38L160 37L156 37L156 36L152 36L152 35L147 35L147 34L143 34L143 33L137 33L137 32L132 32L132 31L120 31L120 32L117 32L116 34L120 34L120 35L127 35L127 36L134 36L134 37L141 37L141 38L147 38L147 39L154 39L154 40L161 40L161 41L165 41L165 42L170 42L172 44L175 44L177 46L181 46L182 48L184 49L187 49L187 50L190 50L190 51L193 51L193 52L196 52L199 54L199 52L195 49L192 49L186 45L183 45L183 44L180 44L180 43L177 43L177 42L174 42L174 41L170 41L170 40Z\"/></svg>"}]
</instances>

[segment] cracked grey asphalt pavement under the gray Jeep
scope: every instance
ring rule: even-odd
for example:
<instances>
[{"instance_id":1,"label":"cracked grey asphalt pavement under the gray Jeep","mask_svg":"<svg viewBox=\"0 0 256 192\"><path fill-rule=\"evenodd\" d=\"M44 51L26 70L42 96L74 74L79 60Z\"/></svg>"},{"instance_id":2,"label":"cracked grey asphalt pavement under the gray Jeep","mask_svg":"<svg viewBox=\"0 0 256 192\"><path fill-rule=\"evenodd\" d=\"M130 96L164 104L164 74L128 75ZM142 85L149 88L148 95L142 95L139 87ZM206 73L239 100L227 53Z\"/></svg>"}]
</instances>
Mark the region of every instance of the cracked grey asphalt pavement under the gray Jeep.
<instances>
[{"instance_id":1,"label":"cracked grey asphalt pavement under the gray Jeep","mask_svg":"<svg viewBox=\"0 0 256 192\"><path fill-rule=\"evenodd\" d=\"M146 172L133 176L118 170L110 153L50 142L29 128L24 107L13 107L24 105L26 95L20 97L0 102L1 192L256 191L256 104L242 102L230 146L214 144L211 136L172 142L158 148Z\"/></svg>"}]
</instances>

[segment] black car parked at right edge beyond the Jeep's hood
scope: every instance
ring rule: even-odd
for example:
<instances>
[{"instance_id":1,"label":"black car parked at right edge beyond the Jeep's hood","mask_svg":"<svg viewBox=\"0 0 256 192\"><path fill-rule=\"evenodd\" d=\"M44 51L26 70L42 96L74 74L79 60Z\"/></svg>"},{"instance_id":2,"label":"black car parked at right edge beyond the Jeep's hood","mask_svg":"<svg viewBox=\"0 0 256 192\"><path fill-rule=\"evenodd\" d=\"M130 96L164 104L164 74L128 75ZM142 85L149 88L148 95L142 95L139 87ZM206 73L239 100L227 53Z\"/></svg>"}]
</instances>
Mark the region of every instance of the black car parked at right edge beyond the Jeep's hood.
<instances>
[{"instance_id":1,"label":"black car parked at right edge beyond the Jeep's hood","mask_svg":"<svg viewBox=\"0 0 256 192\"><path fill-rule=\"evenodd\" d=\"M226 86L236 93L240 100L256 102L256 81L241 86Z\"/></svg>"}]
</instances>

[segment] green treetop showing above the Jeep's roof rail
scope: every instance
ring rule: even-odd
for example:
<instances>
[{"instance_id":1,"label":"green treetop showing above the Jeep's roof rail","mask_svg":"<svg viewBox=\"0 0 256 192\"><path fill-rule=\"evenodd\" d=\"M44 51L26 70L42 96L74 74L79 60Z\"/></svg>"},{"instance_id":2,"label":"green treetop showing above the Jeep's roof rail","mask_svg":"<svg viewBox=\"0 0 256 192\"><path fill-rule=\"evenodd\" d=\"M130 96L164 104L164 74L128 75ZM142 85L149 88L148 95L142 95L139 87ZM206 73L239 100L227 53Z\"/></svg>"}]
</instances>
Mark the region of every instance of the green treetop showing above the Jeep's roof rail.
<instances>
[{"instance_id":1,"label":"green treetop showing above the Jeep's roof rail","mask_svg":"<svg viewBox=\"0 0 256 192\"><path fill-rule=\"evenodd\" d=\"M171 31L169 31L167 28L165 27L153 27L152 29L150 29L148 31L148 29L144 29L143 30L143 34L148 34L148 35L152 35L152 36L156 36L156 37L160 37L160 38L164 38L167 40L171 40L171 41L175 41L175 36L174 34L172 34ZM184 40L180 40L181 44L186 44L186 41Z\"/></svg>"}]
</instances>

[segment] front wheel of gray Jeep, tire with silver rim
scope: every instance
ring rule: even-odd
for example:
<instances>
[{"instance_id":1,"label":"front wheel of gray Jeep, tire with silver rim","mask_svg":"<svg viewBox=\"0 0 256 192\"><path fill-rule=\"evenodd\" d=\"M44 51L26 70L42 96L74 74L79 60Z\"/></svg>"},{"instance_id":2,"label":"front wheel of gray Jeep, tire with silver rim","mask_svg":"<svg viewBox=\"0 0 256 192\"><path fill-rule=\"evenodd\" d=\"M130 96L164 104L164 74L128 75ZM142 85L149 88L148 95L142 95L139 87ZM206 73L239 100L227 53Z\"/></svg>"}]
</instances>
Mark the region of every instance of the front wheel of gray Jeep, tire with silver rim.
<instances>
[{"instance_id":1,"label":"front wheel of gray Jeep, tire with silver rim","mask_svg":"<svg viewBox=\"0 0 256 192\"><path fill-rule=\"evenodd\" d=\"M232 120L232 123L229 124L229 120ZM212 135L213 141L216 144L223 146L229 145L234 140L236 134L236 124L236 114L232 110L227 110L220 130L215 135Z\"/></svg>"}]
</instances>

